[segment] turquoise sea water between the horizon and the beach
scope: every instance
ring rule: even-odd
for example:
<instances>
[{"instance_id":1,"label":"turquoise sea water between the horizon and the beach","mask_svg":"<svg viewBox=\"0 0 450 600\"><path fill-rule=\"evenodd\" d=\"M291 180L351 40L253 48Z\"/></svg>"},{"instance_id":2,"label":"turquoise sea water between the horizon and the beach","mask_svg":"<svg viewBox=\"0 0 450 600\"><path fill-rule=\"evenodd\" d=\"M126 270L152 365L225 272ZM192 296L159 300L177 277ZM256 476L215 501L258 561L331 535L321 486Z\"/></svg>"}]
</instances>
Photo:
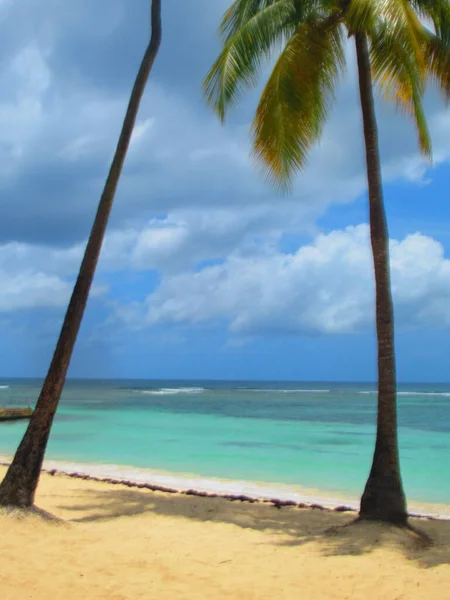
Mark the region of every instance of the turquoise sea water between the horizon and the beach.
<instances>
[{"instance_id":1,"label":"turquoise sea water between the horizon and the beach","mask_svg":"<svg viewBox=\"0 0 450 600\"><path fill-rule=\"evenodd\" d=\"M0 381L0 406L33 405L39 382ZM70 381L47 459L358 497L371 463L369 384ZM410 501L450 503L450 385L399 386L401 465ZM26 424L0 425L12 455Z\"/></svg>"}]
</instances>

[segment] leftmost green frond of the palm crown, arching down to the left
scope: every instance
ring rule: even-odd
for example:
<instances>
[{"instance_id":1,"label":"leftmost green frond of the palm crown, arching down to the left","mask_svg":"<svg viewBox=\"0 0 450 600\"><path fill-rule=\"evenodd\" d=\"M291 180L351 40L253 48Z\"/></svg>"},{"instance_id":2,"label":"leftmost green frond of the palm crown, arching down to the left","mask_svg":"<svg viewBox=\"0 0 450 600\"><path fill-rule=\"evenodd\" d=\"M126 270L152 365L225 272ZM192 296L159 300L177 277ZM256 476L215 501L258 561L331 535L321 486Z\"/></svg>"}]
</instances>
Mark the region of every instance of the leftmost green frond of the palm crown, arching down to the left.
<instances>
[{"instance_id":1,"label":"leftmost green frond of the palm crown, arching down to the left","mask_svg":"<svg viewBox=\"0 0 450 600\"><path fill-rule=\"evenodd\" d=\"M294 17L293 1L277 0L248 19L225 44L203 84L207 103L222 121L242 90L256 84L264 59L295 31Z\"/></svg>"}]
</instances>

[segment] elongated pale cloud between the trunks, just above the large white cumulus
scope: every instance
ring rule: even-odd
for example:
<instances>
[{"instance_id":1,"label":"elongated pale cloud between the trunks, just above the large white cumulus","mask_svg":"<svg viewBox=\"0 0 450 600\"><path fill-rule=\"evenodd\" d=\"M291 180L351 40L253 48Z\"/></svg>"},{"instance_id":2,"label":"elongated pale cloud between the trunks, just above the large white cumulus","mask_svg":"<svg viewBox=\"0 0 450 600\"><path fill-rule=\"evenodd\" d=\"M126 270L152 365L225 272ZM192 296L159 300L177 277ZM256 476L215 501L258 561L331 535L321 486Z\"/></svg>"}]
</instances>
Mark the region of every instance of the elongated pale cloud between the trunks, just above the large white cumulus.
<instances>
[{"instance_id":1,"label":"elongated pale cloud between the trunks, just above the large white cumulus","mask_svg":"<svg viewBox=\"0 0 450 600\"><path fill-rule=\"evenodd\" d=\"M290 205L174 210L151 219L142 228L111 231L105 240L100 267L118 265L135 270L177 272L204 260L221 260L230 254L266 254L281 235L296 230L315 231L311 214L299 210L285 224Z\"/></svg>"}]
</instances>

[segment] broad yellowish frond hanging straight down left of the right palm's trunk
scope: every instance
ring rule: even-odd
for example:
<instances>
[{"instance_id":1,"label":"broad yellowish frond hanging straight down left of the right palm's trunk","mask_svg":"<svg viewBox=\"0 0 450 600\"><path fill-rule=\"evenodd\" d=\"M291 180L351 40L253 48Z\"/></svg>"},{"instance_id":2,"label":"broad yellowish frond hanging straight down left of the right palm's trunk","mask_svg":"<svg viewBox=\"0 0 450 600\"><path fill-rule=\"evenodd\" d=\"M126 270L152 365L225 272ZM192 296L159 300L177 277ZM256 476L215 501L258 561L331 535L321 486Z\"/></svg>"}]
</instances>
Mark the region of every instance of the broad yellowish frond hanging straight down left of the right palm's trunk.
<instances>
[{"instance_id":1,"label":"broad yellowish frond hanging straight down left of the right palm's trunk","mask_svg":"<svg viewBox=\"0 0 450 600\"><path fill-rule=\"evenodd\" d=\"M254 154L281 187L305 166L326 121L345 66L341 18L311 15L300 24L262 93L252 128Z\"/></svg>"}]
</instances>

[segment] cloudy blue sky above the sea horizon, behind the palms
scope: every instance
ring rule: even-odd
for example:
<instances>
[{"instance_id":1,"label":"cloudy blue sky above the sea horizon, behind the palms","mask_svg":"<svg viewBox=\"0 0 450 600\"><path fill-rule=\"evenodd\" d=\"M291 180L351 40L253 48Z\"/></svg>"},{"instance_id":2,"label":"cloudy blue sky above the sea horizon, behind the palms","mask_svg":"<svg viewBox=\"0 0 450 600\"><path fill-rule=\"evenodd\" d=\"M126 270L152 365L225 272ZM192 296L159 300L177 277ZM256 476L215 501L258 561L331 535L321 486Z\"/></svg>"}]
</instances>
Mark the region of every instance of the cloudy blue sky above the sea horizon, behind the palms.
<instances>
[{"instance_id":1,"label":"cloudy blue sky above the sea horizon, behind the palms","mask_svg":"<svg viewBox=\"0 0 450 600\"><path fill-rule=\"evenodd\" d=\"M373 274L354 50L292 193L250 154L258 92L202 98L230 0L163 0L163 41L72 377L373 381ZM149 0L0 0L0 376L48 368L140 60ZM398 376L450 381L450 112L433 162L377 100Z\"/></svg>"}]
</instances>

